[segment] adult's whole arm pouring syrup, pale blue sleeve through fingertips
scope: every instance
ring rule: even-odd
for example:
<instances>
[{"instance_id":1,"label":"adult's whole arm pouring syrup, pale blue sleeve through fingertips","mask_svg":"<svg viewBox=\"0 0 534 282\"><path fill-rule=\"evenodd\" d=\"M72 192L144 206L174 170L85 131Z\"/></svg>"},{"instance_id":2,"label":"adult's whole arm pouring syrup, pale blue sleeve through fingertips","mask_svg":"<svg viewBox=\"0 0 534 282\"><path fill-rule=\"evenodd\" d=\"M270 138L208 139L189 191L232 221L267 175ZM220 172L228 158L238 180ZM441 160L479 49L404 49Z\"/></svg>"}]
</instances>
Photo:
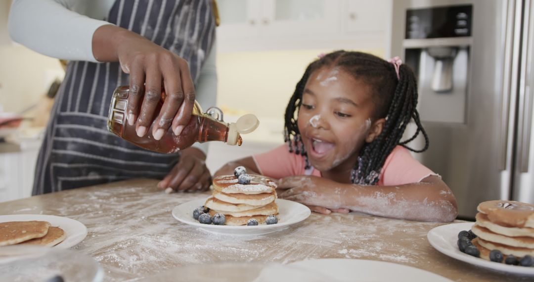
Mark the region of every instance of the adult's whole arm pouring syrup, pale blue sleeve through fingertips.
<instances>
[{"instance_id":1,"label":"adult's whole arm pouring syrup, pale blue sleeve through fingertips","mask_svg":"<svg viewBox=\"0 0 534 282\"><path fill-rule=\"evenodd\" d=\"M128 123L135 124L137 135L145 136L153 121L154 139L161 139L169 127L175 135L180 135L190 120L195 99L187 62L141 35L68 10L69 3L85 3L87 8L92 3L90 1L56 1L15 1L9 21L14 40L61 59L119 61L122 70L130 74ZM101 4L102 1L95 3ZM48 15L43 17L44 14ZM35 38L29 38L34 35ZM162 81L167 89L167 99L159 116L155 116Z\"/></svg>"}]
</instances>

